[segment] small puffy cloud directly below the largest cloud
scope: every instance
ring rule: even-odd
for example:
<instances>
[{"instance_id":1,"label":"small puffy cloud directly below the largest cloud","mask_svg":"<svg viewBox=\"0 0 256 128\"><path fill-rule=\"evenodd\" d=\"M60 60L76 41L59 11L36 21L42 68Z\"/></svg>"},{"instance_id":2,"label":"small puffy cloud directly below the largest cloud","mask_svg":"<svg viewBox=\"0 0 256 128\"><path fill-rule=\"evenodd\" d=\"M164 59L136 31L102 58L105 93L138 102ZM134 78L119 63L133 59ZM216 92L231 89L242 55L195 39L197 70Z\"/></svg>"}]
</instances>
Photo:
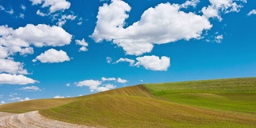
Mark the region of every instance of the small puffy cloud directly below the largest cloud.
<instances>
[{"instance_id":1,"label":"small puffy cloud directly below the largest cloud","mask_svg":"<svg viewBox=\"0 0 256 128\"><path fill-rule=\"evenodd\" d=\"M144 66L146 70L167 70L170 66L170 58L162 56L144 56L136 58L138 62L134 66Z\"/></svg>"}]
</instances>

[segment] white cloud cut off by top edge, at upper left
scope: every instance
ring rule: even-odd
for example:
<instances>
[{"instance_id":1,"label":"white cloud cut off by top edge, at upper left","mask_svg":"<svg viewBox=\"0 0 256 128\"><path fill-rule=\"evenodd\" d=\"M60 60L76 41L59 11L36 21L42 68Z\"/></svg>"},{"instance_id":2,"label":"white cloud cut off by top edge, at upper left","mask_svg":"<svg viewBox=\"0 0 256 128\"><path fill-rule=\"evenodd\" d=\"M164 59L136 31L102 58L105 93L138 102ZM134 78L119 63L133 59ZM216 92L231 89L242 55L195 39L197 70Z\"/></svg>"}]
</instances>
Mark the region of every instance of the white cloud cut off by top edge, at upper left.
<instances>
[{"instance_id":1,"label":"white cloud cut off by top edge, at upper left","mask_svg":"<svg viewBox=\"0 0 256 128\"><path fill-rule=\"evenodd\" d=\"M30 0L30 2L32 5L42 4L42 8L50 7L50 13L70 8L70 2L66 2L66 0Z\"/></svg>"}]
</instances>

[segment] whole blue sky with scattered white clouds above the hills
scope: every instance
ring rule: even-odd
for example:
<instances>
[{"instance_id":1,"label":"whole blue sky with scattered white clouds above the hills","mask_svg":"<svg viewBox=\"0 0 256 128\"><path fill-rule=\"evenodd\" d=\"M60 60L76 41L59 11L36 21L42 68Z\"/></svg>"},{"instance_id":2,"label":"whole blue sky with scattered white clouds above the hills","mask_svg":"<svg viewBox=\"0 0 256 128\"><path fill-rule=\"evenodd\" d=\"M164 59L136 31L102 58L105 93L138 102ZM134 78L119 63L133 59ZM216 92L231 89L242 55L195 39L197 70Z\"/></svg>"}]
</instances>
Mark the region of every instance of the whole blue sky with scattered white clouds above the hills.
<instances>
[{"instance_id":1,"label":"whole blue sky with scattered white clouds above the hills","mask_svg":"<svg viewBox=\"0 0 256 128\"><path fill-rule=\"evenodd\" d=\"M0 104L256 76L256 2L0 0Z\"/></svg>"}]
</instances>

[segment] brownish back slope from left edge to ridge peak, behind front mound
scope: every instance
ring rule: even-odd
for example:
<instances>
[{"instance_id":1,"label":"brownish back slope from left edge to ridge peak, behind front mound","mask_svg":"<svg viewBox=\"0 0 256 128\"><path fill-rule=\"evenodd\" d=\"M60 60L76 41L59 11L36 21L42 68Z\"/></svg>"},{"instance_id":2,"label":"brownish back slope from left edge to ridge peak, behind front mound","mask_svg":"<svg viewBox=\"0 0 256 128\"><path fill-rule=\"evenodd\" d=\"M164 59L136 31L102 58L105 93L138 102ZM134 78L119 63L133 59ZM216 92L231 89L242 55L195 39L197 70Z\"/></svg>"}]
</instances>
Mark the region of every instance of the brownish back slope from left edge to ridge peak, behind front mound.
<instances>
[{"instance_id":1,"label":"brownish back slope from left edge to ridge peak, behind front mound","mask_svg":"<svg viewBox=\"0 0 256 128\"><path fill-rule=\"evenodd\" d=\"M50 99L38 99L25 102L14 102L10 104L4 104L0 106L0 111L10 112L10 113L25 113L34 110L45 110L50 109L51 107L62 106L70 102L80 101L84 98L90 98L100 95L134 95L140 97L154 97L154 94L151 94L150 91L145 86L127 86L124 88L109 90L102 93L90 94L82 97L76 98L50 98Z\"/></svg>"}]
</instances>

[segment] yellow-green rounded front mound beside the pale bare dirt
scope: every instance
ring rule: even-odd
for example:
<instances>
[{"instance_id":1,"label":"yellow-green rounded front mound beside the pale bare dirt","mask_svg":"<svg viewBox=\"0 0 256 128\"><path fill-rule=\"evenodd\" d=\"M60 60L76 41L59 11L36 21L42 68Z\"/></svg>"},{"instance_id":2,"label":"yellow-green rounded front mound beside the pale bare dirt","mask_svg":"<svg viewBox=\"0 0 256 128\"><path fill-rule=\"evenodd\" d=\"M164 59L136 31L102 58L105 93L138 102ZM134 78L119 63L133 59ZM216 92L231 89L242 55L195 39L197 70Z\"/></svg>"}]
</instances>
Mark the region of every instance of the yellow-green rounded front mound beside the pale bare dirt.
<instances>
[{"instance_id":1,"label":"yellow-green rounded front mound beside the pale bare dirt","mask_svg":"<svg viewBox=\"0 0 256 128\"><path fill-rule=\"evenodd\" d=\"M254 127L256 118L203 110L154 98L104 95L41 110L63 122L98 127ZM65 117L65 118L64 118Z\"/></svg>"}]
</instances>

